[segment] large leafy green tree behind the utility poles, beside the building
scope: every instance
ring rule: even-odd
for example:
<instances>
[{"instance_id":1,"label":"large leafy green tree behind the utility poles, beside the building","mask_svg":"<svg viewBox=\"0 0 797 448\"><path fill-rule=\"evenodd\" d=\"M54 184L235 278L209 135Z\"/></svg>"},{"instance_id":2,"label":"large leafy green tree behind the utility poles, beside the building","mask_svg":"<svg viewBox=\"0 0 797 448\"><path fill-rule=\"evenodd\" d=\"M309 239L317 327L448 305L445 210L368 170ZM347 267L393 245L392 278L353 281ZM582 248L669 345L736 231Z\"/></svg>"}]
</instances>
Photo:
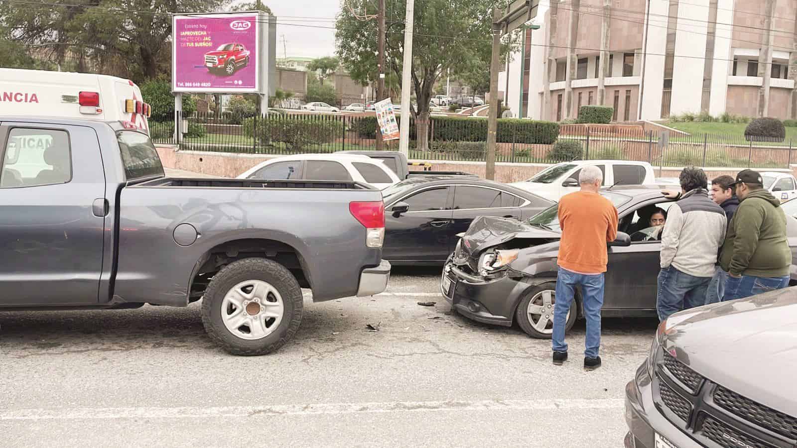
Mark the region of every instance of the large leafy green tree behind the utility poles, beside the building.
<instances>
[{"instance_id":1,"label":"large leafy green tree behind the utility poles, beside the building","mask_svg":"<svg viewBox=\"0 0 797 448\"><path fill-rule=\"evenodd\" d=\"M492 6L484 0L424 0L415 2L412 58L412 88L418 98L417 110L410 107L418 130L418 148L428 144L429 100L441 73L450 69L452 77L473 71L473 67L489 67L492 50ZM365 11L376 14L375 3L351 0L336 22L336 53L355 81L377 80L377 23L360 21L351 13ZM387 0L387 10L403 11L406 0ZM401 22L387 27L386 65L401 77L403 61L403 28ZM511 42L512 44L514 42ZM506 48L505 48L506 50ZM405 107L409 107L406 105Z\"/></svg>"}]
</instances>

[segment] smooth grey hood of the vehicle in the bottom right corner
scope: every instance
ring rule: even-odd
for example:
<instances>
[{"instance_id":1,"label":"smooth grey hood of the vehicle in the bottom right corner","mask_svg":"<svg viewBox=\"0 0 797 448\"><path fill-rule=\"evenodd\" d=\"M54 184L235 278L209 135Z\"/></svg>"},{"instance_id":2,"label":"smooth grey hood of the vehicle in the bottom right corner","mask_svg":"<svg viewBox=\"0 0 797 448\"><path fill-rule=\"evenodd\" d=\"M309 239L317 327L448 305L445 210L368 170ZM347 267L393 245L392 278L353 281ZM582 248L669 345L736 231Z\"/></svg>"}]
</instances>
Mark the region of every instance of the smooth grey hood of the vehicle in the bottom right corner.
<instances>
[{"instance_id":1,"label":"smooth grey hood of the vehicle in the bottom right corner","mask_svg":"<svg viewBox=\"0 0 797 448\"><path fill-rule=\"evenodd\" d=\"M797 287L673 314L662 345L731 391L797 416Z\"/></svg>"}]
</instances>

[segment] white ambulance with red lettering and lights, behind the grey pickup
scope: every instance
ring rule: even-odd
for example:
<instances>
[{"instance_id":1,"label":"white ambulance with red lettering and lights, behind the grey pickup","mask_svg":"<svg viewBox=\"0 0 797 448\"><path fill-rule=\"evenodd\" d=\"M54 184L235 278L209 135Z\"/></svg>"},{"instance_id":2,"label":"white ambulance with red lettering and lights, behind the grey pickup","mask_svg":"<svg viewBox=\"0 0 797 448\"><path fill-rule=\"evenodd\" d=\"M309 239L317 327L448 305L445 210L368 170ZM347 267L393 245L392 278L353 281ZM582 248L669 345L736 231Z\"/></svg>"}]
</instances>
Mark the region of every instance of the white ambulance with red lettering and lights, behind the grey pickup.
<instances>
[{"instance_id":1,"label":"white ambulance with red lettering and lights, behind the grey pickup","mask_svg":"<svg viewBox=\"0 0 797 448\"><path fill-rule=\"evenodd\" d=\"M119 121L149 133L149 104L133 81L90 73L0 69L0 116Z\"/></svg>"}]
</instances>

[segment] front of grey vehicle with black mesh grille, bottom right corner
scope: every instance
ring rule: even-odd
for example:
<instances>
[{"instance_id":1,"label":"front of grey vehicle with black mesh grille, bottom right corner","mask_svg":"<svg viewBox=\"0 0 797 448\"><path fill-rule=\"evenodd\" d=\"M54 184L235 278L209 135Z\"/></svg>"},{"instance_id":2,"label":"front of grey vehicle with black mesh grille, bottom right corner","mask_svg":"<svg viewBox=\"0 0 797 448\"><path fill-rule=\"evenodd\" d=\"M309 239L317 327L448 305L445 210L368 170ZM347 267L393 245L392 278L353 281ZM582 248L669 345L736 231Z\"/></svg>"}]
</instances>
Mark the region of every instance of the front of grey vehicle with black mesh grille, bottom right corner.
<instances>
[{"instance_id":1,"label":"front of grey vehicle with black mesh grille, bottom right corner","mask_svg":"<svg viewBox=\"0 0 797 448\"><path fill-rule=\"evenodd\" d=\"M630 448L797 446L797 288L670 316L626 386Z\"/></svg>"}]
</instances>

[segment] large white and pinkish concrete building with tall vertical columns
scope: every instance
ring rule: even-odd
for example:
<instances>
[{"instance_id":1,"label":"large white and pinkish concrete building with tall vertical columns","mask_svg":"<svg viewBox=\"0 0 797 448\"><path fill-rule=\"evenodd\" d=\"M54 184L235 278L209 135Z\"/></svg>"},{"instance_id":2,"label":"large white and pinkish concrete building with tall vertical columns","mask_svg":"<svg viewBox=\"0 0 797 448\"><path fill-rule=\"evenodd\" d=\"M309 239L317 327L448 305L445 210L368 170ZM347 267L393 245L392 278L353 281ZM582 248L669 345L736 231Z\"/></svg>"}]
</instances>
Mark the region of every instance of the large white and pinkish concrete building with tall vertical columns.
<instances>
[{"instance_id":1,"label":"large white and pinkish concrete building with tall vertical columns","mask_svg":"<svg viewBox=\"0 0 797 448\"><path fill-rule=\"evenodd\" d=\"M797 116L797 0L554 1L537 17L499 84L514 116Z\"/></svg>"}]
</instances>

